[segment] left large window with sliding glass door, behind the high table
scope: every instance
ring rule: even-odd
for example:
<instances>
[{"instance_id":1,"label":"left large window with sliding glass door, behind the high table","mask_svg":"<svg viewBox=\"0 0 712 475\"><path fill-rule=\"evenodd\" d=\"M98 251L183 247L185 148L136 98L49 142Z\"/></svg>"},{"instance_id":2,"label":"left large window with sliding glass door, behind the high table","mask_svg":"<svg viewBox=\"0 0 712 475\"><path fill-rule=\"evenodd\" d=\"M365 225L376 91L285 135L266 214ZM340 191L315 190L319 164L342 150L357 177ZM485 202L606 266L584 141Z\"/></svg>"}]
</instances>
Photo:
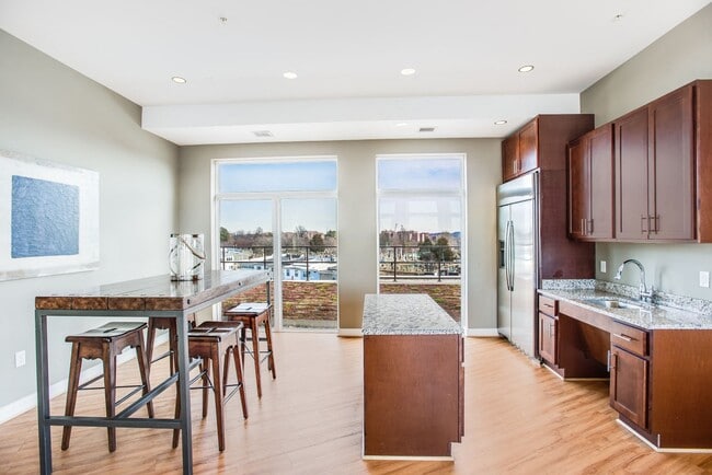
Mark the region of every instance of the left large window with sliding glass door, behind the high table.
<instances>
[{"instance_id":1,"label":"left large window with sliding glass door, behind the high table","mask_svg":"<svg viewBox=\"0 0 712 475\"><path fill-rule=\"evenodd\" d=\"M218 267L273 271L277 328L336 329L336 160L219 160L215 167ZM264 300L264 292L238 299Z\"/></svg>"}]
</instances>

